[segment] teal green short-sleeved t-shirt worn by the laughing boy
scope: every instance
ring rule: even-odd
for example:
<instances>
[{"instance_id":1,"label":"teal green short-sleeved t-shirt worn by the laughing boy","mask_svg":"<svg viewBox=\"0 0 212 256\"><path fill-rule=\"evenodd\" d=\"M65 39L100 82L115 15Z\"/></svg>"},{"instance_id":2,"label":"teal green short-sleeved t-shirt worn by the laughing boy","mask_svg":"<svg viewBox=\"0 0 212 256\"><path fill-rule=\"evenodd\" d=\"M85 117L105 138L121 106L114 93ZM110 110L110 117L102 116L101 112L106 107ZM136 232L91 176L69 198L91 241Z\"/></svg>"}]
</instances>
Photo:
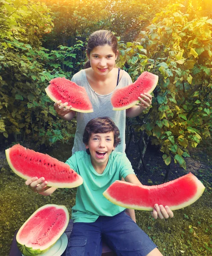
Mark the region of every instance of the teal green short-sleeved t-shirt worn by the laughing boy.
<instances>
[{"instance_id":1,"label":"teal green short-sleeved t-shirt worn by the laughing boy","mask_svg":"<svg viewBox=\"0 0 212 256\"><path fill-rule=\"evenodd\" d=\"M83 178L82 185L77 188L76 204L72 208L74 222L94 222L100 215L114 216L125 209L102 195L115 180L134 174L125 154L113 151L102 174L95 171L86 151L75 152L66 163Z\"/></svg>"}]
</instances>

